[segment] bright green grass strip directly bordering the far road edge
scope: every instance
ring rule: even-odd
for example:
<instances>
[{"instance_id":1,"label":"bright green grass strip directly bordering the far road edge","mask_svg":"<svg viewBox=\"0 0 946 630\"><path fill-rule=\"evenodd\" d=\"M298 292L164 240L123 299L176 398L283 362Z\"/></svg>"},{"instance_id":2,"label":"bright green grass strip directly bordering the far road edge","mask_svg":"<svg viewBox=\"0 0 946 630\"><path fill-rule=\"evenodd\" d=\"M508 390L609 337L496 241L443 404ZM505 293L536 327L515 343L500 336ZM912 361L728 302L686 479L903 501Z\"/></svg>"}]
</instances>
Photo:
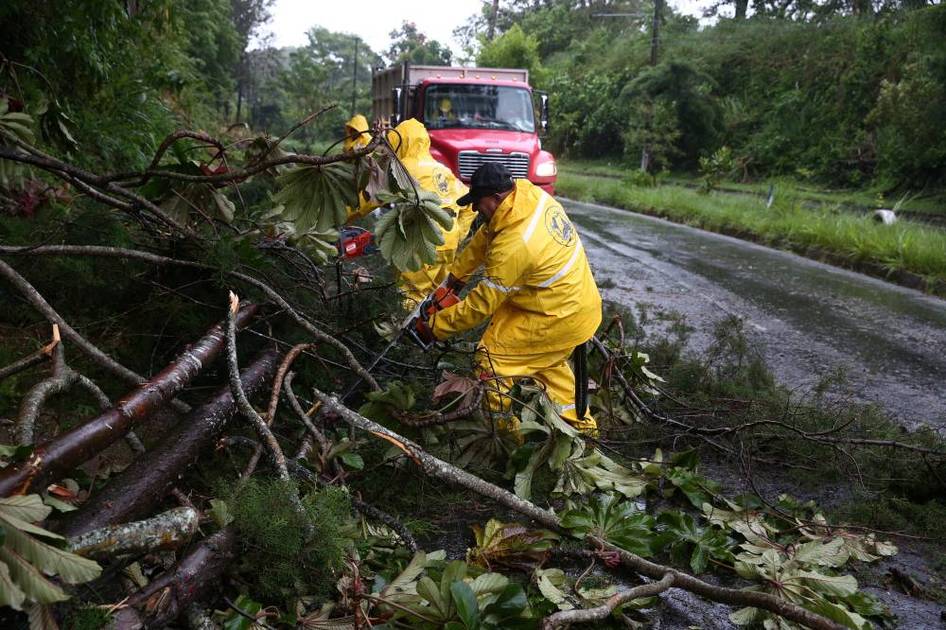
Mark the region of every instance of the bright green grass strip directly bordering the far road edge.
<instances>
[{"instance_id":1,"label":"bright green grass strip directly bordering the far road edge","mask_svg":"<svg viewBox=\"0 0 946 630\"><path fill-rule=\"evenodd\" d=\"M714 232L757 240L880 275L906 272L935 289L946 283L946 231L910 221L881 225L834 208L804 207L786 191L771 208L758 198L699 193L676 185L645 188L593 175L559 174L560 194L578 201L655 214Z\"/></svg>"}]
</instances>

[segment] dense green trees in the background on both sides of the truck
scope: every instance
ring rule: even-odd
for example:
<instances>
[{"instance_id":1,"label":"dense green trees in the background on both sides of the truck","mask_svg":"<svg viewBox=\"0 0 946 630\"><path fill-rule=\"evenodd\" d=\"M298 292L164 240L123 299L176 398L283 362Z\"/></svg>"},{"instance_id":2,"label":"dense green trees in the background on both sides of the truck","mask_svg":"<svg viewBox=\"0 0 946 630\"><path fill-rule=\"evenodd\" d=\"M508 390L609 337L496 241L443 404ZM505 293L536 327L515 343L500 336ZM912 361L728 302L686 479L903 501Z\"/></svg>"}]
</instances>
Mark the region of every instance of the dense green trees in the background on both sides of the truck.
<instances>
[{"instance_id":1,"label":"dense green trees in the background on both sides of the truck","mask_svg":"<svg viewBox=\"0 0 946 630\"><path fill-rule=\"evenodd\" d=\"M646 144L655 168L694 169L727 147L746 177L946 182L942 4L739 0L708 6L703 27L664 6L655 66L650 2L492 8L458 29L466 53L451 59L409 22L384 51L321 27L306 46L267 47L271 0L5 2L0 90L80 163L131 168L178 126L279 135L330 103L294 141L335 140L369 112L372 68L400 60L525 66L552 95L546 143L560 156L630 165Z\"/></svg>"}]
</instances>

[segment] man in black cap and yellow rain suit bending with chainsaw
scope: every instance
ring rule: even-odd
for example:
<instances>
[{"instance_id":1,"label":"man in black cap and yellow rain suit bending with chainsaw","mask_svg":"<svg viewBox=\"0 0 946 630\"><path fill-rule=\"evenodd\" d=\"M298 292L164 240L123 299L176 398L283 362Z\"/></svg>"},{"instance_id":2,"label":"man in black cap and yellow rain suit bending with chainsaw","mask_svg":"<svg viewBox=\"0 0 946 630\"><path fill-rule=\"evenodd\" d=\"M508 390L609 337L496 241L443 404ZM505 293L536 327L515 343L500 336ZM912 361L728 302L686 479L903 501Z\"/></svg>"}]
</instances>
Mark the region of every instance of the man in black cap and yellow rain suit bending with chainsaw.
<instances>
[{"instance_id":1,"label":"man in black cap and yellow rain suit bending with chainsaw","mask_svg":"<svg viewBox=\"0 0 946 630\"><path fill-rule=\"evenodd\" d=\"M514 182L499 164L476 170L469 194L457 200L470 202L488 222L460 254L447 284L462 287L480 265L483 279L457 304L427 322L415 320L418 335L443 340L491 318L477 353L481 374L495 377L490 408L507 412L513 379L527 376L545 385L566 421L594 432L590 414L576 413L568 364L601 323L601 296L575 226L548 193L525 179Z\"/></svg>"}]
</instances>

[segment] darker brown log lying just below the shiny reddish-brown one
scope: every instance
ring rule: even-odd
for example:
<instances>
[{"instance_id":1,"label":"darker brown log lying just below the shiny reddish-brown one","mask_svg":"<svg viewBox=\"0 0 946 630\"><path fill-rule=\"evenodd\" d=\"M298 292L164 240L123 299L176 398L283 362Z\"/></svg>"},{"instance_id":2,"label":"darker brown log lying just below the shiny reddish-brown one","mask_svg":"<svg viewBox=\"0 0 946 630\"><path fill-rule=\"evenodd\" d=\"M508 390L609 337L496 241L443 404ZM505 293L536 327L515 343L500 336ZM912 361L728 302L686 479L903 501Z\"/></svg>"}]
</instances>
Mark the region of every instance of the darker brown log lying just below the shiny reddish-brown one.
<instances>
[{"instance_id":1,"label":"darker brown log lying just below the shiny reddish-brown one","mask_svg":"<svg viewBox=\"0 0 946 630\"><path fill-rule=\"evenodd\" d=\"M279 354L264 350L243 370L240 380L248 395L260 390L276 368ZM144 456L109 481L82 508L70 512L60 527L66 537L141 518L155 508L171 486L220 435L236 406L224 385L208 403L188 414Z\"/></svg>"}]
</instances>

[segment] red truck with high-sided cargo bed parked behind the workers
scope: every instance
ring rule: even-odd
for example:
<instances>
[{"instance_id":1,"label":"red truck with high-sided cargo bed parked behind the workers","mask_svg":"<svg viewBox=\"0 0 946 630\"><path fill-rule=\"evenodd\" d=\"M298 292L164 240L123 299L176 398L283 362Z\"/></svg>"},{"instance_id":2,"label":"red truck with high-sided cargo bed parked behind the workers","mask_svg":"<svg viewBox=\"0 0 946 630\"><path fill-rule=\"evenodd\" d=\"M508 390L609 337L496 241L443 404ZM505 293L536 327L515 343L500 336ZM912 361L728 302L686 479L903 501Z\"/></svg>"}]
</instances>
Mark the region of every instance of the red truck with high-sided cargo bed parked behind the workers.
<instances>
[{"instance_id":1,"label":"red truck with high-sided cargo bed parked behind the workers","mask_svg":"<svg viewBox=\"0 0 946 630\"><path fill-rule=\"evenodd\" d=\"M555 193L555 158L539 139L548 132L548 95L532 89L528 70L404 63L376 71L371 83L374 118L424 123L431 154L464 182L479 165L501 162Z\"/></svg>"}]
</instances>

